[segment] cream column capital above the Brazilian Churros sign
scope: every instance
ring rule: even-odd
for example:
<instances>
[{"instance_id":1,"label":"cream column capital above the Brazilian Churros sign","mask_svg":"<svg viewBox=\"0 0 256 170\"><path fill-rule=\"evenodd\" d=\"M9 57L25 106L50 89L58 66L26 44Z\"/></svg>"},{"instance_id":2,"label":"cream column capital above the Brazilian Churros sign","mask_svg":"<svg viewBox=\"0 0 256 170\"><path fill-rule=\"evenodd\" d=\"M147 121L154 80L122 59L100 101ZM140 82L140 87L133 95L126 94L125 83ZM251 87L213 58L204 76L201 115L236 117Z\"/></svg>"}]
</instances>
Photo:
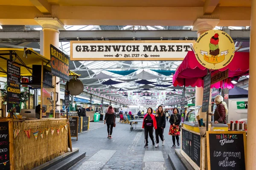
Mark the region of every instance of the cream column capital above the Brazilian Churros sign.
<instances>
[{"instance_id":1,"label":"cream column capital above the Brazilian Churros sign","mask_svg":"<svg viewBox=\"0 0 256 170\"><path fill-rule=\"evenodd\" d=\"M64 24L58 18L35 18L35 21L45 29L56 31L65 30Z\"/></svg>"}]
</instances>

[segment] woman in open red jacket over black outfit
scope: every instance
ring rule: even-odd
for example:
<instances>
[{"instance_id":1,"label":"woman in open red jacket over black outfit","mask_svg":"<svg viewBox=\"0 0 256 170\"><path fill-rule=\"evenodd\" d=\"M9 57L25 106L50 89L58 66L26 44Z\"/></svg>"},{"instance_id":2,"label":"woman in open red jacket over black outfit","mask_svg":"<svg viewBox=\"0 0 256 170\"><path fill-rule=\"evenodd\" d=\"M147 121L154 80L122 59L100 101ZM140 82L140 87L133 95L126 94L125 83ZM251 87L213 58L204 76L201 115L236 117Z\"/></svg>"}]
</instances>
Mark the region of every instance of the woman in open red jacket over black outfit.
<instances>
[{"instance_id":1,"label":"woman in open red jacket over black outfit","mask_svg":"<svg viewBox=\"0 0 256 170\"><path fill-rule=\"evenodd\" d=\"M144 116L143 123L142 123L142 128L144 128L144 135L145 135L144 147L148 147L148 133L152 141L152 144L154 146L153 127L157 129L157 121L155 116L152 113L153 113L153 109L148 108L147 114Z\"/></svg>"}]
</instances>

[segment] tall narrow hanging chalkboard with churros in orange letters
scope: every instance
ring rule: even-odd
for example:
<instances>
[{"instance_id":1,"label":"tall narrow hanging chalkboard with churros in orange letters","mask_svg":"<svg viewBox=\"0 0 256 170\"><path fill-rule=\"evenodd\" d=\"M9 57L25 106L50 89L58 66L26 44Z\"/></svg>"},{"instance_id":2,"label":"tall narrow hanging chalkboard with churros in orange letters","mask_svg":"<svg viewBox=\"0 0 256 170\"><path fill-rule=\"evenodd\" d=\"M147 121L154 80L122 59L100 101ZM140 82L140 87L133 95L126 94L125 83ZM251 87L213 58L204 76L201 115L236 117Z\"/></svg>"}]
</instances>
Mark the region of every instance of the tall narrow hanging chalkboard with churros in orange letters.
<instances>
[{"instance_id":1,"label":"tall narrow hanging chalkboard with churros in orange letters","mask_svg":"<svg viewBox=\"0 0 256 170\"><path fill-rule=\"evenodd\" d=\"M7 111L20 113L20 65L7 60Z\"/></svg>"}]
</instances>

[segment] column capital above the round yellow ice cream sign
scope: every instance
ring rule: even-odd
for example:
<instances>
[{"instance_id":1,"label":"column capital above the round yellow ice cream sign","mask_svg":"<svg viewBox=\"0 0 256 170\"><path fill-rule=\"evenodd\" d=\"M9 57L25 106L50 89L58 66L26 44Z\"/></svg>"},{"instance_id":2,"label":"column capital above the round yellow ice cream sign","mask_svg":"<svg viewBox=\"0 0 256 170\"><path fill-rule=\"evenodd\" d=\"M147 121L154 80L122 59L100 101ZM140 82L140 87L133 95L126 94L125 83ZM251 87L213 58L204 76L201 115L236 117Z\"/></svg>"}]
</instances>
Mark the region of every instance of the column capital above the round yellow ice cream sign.
<instances>
[{"instance_id":1,"label":"column capital above the round yellow ice cream sign","mask_svg":"<svg viewBox=\"0 0 256 170\"><path fill-rule=\"evenodd\" d=\"M215 28L220 22L219 19L197 19L193 24L192 31L209 31Z\"/></svg>"}]
</instances>

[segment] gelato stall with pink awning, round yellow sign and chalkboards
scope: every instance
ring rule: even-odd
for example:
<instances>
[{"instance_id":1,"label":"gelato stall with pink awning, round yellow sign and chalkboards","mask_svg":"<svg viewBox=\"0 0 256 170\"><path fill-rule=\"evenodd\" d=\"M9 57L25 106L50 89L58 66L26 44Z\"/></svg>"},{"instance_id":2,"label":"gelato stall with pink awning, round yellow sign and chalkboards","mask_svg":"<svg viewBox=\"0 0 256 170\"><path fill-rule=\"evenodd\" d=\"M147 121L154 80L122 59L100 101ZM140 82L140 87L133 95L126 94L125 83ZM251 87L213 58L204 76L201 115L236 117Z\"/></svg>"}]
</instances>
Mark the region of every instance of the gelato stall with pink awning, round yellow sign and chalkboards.
<instances>
[{"instance_id":1,"label":"gelato stall with pink awning, round yellow sign and chalkboards","mask_svg":"<svg viewBox=\"0 0 256 170\"><path fill-rule=\"evenodd\" d=\"M236 146L245 146L246 138L243 137L245 132L229 132L228 125L214 124L211 122L211 117L207 115L211 108L211 101L209 101L211 88L231 89L234 87L232 80L238 81L239 77L248 74L249 53L236 52L229 35L217 30L204 33L204 36L195 43L193 51L187 53L183 62L175 71L173 76L174 86L204 88L202 106L189 108L181 130L181 154L196 170L221 169L223 167L227 170L230 168L233 170L245 168L242 163L236 166L235 164L238 161L245 162L245 157L243 156L245 155L246 147L243 147L244 149L241 149L243 152L241 152L241 150L236 149L237 147L234 147L235 145L226 144L227 146L225 147L219 147L224 148L223 150L214 150L218 145L221 144L222 146L225 142L234 142L237 144ZM223 136L220 135L221 133L223 133ZM213 139L210 140L209 136L215 136L217 139L212 142ZM227 139L227 136L231 136L231 138L232 136L239 137L231 141L231 139ZM209 141L211 141L210 144ZM224 159L222 157L217 161L215 157L218 156L214 155L216 151L221 154L237 151L242 156L240 159L235 159L232 156L223 156ZM233 161L234 164L230 165L229 161ZM226 166L227 162L228 166Z\"/></svg>"}]
</instances>

